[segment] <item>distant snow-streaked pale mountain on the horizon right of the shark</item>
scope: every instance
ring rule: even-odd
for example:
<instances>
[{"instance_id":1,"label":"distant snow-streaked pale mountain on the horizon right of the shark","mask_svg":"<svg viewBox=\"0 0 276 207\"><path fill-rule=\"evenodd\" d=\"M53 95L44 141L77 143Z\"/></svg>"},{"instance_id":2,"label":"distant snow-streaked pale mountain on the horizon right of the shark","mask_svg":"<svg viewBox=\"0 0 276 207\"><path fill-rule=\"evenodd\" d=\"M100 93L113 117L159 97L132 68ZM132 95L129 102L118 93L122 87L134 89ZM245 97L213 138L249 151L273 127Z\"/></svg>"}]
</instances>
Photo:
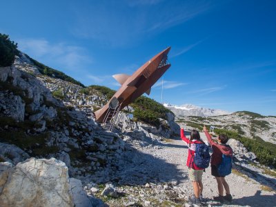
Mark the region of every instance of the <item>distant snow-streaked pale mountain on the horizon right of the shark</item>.
<instances>
[{"instance_id":1,"label":"distant snow-streaked pale mountain on the horizon right of the shark","mask_svg":"<svg viewBox=\"0 0 276 207\"><path fill-rule=\"evenodd\" d=\"M220 109L211 109L211 108L202 108L199 106L194 106L192 104L184 104L181 106L171 105L170 103L163 104L166 108L169 108L172 112L175 113L175 117L188 117L188 116L197 116L197 117L213 117L220 115L230 115L232 112Z\"/></svg>"}]
</instances>

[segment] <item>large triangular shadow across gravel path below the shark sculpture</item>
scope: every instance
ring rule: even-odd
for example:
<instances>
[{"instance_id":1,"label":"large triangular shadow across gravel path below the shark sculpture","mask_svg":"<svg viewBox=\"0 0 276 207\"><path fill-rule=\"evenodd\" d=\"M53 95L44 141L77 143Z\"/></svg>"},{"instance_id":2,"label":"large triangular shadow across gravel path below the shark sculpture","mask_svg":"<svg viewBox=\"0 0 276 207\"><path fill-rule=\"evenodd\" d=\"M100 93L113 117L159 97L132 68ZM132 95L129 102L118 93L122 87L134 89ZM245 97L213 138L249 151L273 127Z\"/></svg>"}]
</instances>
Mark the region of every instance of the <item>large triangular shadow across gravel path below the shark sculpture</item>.
<instances>
[{"instance_id":1,"label":"large triangular shadow across gravel path below the shark sculpture","mask_svg":"<svg viewBox=\"0 0 276 207\"><path fill-rule=\"evenodd\" d=\"M166 162L158 152L158 157L146 154L126 143L128 150L122 152L111 166L107 166L98 175L91 177L96 183L112 181L120 185L144 186L147 183L175 185L188 179L188 175L177 166ZM155 150L163 150L157 148ZM103 176L104 175L104 176Z\"/></svg>"}]
</instances>

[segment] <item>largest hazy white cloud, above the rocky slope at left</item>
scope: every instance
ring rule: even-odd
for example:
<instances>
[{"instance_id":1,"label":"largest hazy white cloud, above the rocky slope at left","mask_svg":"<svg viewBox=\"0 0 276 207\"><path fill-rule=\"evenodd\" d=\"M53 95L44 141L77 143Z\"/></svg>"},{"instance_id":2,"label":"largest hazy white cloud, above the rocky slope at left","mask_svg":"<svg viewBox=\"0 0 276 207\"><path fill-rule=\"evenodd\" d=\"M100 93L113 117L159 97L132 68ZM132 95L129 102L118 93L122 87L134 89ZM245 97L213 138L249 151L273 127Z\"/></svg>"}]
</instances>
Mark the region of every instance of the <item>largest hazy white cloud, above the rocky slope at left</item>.
<instances>
[{"instance_id":1,"label":"largest hazy white cloud, above the rocky slope at left","mask_svg":"<svg viewBox=\"0 0 276 207\"><path fill-rule=\"evenodd\" d=\"M50 43L46 39L19 39L19 50L26 52L31 57L49 60L58 63L65 69L79 68L83 63L90 63L91 57L87 51L79 46L70 46L66 43Z\"/></svg>"}]
</instances>

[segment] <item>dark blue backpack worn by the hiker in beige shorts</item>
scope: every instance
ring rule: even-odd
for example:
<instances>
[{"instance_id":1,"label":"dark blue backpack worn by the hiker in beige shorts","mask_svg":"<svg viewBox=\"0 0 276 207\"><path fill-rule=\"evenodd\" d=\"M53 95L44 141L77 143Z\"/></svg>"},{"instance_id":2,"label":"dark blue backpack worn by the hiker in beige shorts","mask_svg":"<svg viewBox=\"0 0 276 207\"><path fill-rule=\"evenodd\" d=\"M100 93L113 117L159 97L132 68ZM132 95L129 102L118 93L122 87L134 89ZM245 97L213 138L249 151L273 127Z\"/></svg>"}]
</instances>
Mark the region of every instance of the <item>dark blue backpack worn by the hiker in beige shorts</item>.
<instances>
[{"instance_id":1,"label":"dark blue backpack worn by the hiker in beige shorts","mask_svg":"<svg viewBox=\"0 0 276 207\"><path fill-rule=\"evenodd\" d=\"M210 154L209 148L205 143L196 143L194 163L199 168L208 168L210 163Z\"/></svg>"}]
</instances>

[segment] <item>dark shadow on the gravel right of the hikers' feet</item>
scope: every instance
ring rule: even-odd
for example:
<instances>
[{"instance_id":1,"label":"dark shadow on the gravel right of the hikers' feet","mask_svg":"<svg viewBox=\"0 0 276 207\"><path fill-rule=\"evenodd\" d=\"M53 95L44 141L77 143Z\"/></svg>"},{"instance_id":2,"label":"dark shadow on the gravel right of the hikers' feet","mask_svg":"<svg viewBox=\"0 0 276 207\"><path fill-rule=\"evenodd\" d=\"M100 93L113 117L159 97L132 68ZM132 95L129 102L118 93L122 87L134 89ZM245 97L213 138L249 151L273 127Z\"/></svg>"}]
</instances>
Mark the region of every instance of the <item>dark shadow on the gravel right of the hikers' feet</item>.
<instances>
[{"instance_id":1,"label":"dark shadow on the gravel right of the hikers' feet","mask_svg":"<svg viewBox=\"0 0 276 207\"><path fill-rule=\"evenodd\" d=\"M257 190L255 195L242 197L240 199L233 199L233 204L238 204L241 206L275 206L276 196L275 195L261 195L261 190Z\"/></svg>"}]
</instances>

